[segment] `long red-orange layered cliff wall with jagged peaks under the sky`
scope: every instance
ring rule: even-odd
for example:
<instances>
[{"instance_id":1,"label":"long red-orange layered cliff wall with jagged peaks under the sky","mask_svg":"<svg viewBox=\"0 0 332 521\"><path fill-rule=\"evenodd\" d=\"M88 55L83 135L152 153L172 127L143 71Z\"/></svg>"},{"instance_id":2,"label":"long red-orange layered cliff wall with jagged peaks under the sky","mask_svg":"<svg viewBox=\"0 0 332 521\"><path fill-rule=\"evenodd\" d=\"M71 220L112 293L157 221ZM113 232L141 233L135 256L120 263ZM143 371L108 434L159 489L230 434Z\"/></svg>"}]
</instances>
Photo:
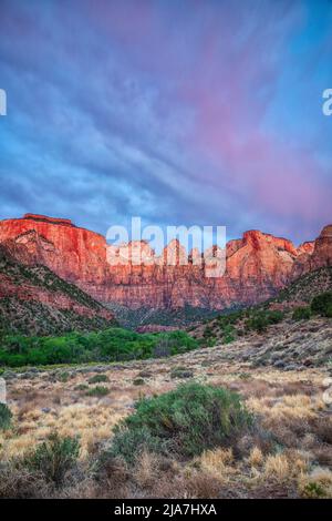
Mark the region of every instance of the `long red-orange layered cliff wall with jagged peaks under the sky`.
<instances>
[{"instance_id":1,"label":"long red-orange layered cliff wall with jagged peaks under the sky","mask_svg":"<svg viewBox=\"0 0 332 521\"><path fill-rule=\"evenodd\" d=\"M160 256L146 242L111 247L102 235L69 219L27 214L2 221L0 243L9 239L17 256L19 246L25 246L21 262L43 264L100 302L131 308L188 304L222 309L255 304L273 296L297 276L332 264L332 226L315 242L298 248L284 238L246 232L241 239L227 244L226 272L217 277L208 276L215 264L218 268L216 248L209 252L212 262L207 265L197 251L187 257L178 241L169 243ZM118 258L126 263L118 264Z\"/></svg>"}]
</instances>

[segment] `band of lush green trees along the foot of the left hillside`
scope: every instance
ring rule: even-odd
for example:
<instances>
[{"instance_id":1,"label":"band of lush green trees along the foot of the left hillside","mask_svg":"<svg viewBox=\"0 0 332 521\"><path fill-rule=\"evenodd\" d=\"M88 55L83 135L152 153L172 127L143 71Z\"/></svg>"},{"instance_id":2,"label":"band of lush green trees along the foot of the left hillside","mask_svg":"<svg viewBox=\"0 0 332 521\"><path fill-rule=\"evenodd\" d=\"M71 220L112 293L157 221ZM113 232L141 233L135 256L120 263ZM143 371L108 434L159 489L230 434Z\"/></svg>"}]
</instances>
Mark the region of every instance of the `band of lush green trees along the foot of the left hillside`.
<instances>
[{"instance_id":1,"label":"band of lush green trees along the foot of the left hillside","mask_svg":"<svg viewBox=\"0 0 332 521\"><path fill-rule=\"evenodd\" d=\"M0 365L8 367L120 361L170 356L198 347L185 331L138 334L123 328L69 333L59 337L7 335L1 339Z\"/></svg>"}]
</instances>

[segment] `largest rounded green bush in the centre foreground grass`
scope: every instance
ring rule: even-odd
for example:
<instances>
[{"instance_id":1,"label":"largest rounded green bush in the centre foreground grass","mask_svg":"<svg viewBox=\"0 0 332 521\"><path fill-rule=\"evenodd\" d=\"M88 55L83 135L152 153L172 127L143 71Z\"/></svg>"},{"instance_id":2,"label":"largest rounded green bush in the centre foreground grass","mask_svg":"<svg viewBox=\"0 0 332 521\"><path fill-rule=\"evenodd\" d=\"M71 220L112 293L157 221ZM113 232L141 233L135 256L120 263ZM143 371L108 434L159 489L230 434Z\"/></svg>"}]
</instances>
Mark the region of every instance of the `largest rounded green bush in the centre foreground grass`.
<instances>
[{"instance_id":1,"label":"largest rounded green bush in the centre foreground grass","mask_svg":"<svg viewBox=\"0 0 332 521\"><path fill-rule=\"evenodd\" d=\"M196 382L143 398L135 407L136 412L115 427L108 451L128 463L142 450L190 458L229 446L252 423L239 395Z\"/></svg>"}]
</instances>

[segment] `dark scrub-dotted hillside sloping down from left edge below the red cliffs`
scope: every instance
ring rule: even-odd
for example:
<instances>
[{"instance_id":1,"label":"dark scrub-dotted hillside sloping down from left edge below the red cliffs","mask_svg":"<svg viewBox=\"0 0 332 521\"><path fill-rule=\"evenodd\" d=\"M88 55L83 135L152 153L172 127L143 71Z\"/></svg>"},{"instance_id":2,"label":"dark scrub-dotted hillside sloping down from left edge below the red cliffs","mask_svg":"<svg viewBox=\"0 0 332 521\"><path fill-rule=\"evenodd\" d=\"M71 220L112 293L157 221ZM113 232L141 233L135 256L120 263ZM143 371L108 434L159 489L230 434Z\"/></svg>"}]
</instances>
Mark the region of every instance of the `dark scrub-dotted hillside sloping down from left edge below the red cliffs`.
<instances>
[{"instance_id":1,"label":"dark scrub-dotted hillside sloping down from left edge below the red cliffs","mask_svg":"<svg viewBox=\"0 0 332 521\"><path fill-rule=\"evenodd\" d=\"M114 315L90 295L45 266L21 264L0 245L1 333L50 335L114 323Z\"/></svg>"}]
</instances>

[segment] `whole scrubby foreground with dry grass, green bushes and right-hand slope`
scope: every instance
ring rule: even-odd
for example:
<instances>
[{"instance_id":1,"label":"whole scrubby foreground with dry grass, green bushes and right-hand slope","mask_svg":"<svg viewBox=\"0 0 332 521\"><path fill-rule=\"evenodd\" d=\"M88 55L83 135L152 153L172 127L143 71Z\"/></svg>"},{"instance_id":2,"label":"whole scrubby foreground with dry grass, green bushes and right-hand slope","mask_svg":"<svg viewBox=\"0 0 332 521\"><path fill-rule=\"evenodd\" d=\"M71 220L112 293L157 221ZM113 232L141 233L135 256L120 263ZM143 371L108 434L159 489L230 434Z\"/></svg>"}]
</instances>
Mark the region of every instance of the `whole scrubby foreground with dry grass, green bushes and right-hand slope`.
<instances>
[{"instance_id":1,"label":"whole scrubby foreground with dry grass, green bushes and right-hand slope","mask_svg":"<svg viewBox=\"0 0 332 521\"><path fill-rule=\"evenodd\" d=\"M331 497L330 326L290 317L174 357L6 369L0 496Z\"/></svg>"}]
</instances>

